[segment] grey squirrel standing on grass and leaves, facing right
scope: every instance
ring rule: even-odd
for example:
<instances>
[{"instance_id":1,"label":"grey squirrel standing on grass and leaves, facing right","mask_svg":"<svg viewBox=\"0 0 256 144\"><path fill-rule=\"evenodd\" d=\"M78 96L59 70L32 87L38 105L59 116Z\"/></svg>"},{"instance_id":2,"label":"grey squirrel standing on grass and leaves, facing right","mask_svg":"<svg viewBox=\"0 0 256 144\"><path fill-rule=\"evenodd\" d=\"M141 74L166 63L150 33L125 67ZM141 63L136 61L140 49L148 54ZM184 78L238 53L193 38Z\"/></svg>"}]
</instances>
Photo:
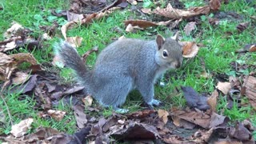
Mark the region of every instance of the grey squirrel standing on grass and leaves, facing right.
<instances>
[{"instance_id":1,"label":"grey squirrel standing on grass and leaves, facing right","mask_svg":"<svg viewBox=\"0 0 256 144\"><path fill-rule=\"evenodd\" d=\"M128 110L119 106L126 102L130 90L139 90L150 108L160 104L154 99L154 83L166 70L182 65L182 46L176 38L165 39L158 35L150 41L118 39L102 50L92 70L88 70L69 43L59 42L54 49L65 65L74 70L87 94L102 106L112 106L115 111L126 113Z\"/></svg>"}]
</instances>

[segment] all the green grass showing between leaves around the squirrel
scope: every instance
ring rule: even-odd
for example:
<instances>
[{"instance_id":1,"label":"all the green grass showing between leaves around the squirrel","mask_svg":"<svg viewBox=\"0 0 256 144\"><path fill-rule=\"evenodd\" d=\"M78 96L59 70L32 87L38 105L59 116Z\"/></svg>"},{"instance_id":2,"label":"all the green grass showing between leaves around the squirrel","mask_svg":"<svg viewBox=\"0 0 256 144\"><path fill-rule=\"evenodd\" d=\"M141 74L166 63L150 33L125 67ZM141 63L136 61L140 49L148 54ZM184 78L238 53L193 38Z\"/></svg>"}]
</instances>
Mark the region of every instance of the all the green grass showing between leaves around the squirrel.
<instances>
[{"instance_id":1,"label":"all the green grass showing between leaves around the squirrel","mask_svg":"<svg viewBox=\"0 0 256 144\"><path fill-rule=\"evenodd\" d=\"M204 1L187 1L186 7L191 6L203 6ZM3 34L10 26L11 22L18 22L22 26L30 28L34 33L34 37L38 38L42 34L42 30L38 26L50 26L52 21L57 21L60 25L66 22L63 18L55 18L50 14L50 10L64 10L68 9L68 1L65 0L21 0L21 1L4 1L0 0L0 6L4 10L0 10L0 15L3 21L0 21L0 32ZM255 4L255 2L254 2ZM240 22L252 22L250 16L256 14L256 10L252 7L252 4L246 4L240 0L230 2L228 5L222 5L222 12L235 11L243 16L242 20L234 19L222 19L220 24L212 26L208 22L207 18L213 18L214 13L209 15L203 15L201 17L202 23L197 26L190 36L186 36L182 33L182 41L195 41L201 43L203 46L199 50L198 55L190 60L184 60L184 65L179 70L172 70L166 73L165 81L167 82L165 87L155 86L155 96L165 104L160 106L162 109L170 109L172 106L184 107L186 102L183 98L183 94L180 90L180 86L192 86L194 90L201 92L212 93L217 84L217 80L214 74L234 74L234 70L230 66L230 62L244 62L248 65L256 65L256 54L244 54L238 55L234 51L241 49L243 46L249 43L255 42L256 27L252 24L242 33L238 32L236 26ZM78 53L84 54L87 50L92 49L94 46L98 46L99 51L104 49L110 42L114 41L114 38L119 38L124 35L127 38L145 38L153 39L155 34L162 34L164 36L171 36L173 33L168 31L165 26L158 26L157 28L150 28L146 30L138 30L137 33L127 33L123 24L124 20L128 18L138 18L132 11L119 10L109 16L102 18L101 20L94 21L90 25L80 26L78 25L72 30L68 30L67 36L80 36L83 38L82 46L78 47ZM186 26L186 21L183 21L179 25L179 29L182 31ZM121 31L116 31L119 28ZM52 46L54 42L58 42L58 37L61 37L58 30L57 36L50 41L44 42L42 49L34 49L32 51L26 48L19 49L15 52L30 52L34 54L34 57L42 65L50 64L53 58ZM1 36L0 40L4 38ZM90 54L87 58L87 65L92 67L98 54ZM200 74L203 72L203 66L200 58L205 62L206 72L213 74L211 78L202 78ZM49 66L49 65L47 65ZM47 67L46 70L59 74L62 78L60 83L74 83L74 74L70 69L58 69L56 67ZM22 69L26 69L26 65L22 66ZM247 74L253 70L248 69L242 73ZM238 73L236 74L238 76ZM179 91L176 91L178 89ZM14 123L17 123L25 118L34 118L33 130L38 126L50 126L61 130L63 132L72 134L76 131L75 119L73 111L69 106L66 106L62 102L54 109L64 110L67 112L66 116L61 122L57 122L52 118L39 118L38 110L34 110L35 101L34 96L21 95L19 93L5 94L6 102L10 108L10 113L14 118ZM246 100L245 100L246 101ZM255 111L250 106L239 107L237 102L234 102L234 107L231 110L226 108L226 97L220 97L218 102L218 111L220 114L224 114L232 121L242 121L249 118L256 126ZM0 101L0 106L3 106L3 112L6 114L6 122L10 122L10 119L6 113L6 106ZM94 102L94 106L98 106L97 102ZM145 109L143 107L142 97L138 91L132 92L124 106L125 109L129 109L130 112ZM86 114L90 114L95 117L105 116L108 117L112 114L112 109L105 109L98 113L85 110ZM63 126L65 125L65 126ZM33 132L30 131L30 132ZM0 127L0 134L9 134L10 125ZM256 136L254 132L254 136Z\"/></svg>"}]
</instances>

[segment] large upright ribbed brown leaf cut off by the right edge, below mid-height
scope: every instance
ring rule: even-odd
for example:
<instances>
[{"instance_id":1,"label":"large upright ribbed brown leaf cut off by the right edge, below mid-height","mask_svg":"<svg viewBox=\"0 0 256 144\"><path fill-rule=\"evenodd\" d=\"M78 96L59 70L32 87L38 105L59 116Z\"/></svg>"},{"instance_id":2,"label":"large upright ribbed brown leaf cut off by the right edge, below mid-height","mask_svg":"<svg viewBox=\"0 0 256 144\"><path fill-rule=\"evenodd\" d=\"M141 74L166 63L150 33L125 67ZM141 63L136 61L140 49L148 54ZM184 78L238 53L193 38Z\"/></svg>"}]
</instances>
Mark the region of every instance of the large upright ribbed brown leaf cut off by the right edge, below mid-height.
<instances>
[{"instance_id":1,"label":"large upright ribbed brown leaf cut off by the right edge, below mid-height","mask_svg":"<svg viewBox=\"0 0 256 144\"><path fill-rule=\"evenodd\" d=\"M243 87L246 88L246 97L249 98L250 105L256 110L256 78L246 76L243 82Z\"/></svg>"}]
</instances>

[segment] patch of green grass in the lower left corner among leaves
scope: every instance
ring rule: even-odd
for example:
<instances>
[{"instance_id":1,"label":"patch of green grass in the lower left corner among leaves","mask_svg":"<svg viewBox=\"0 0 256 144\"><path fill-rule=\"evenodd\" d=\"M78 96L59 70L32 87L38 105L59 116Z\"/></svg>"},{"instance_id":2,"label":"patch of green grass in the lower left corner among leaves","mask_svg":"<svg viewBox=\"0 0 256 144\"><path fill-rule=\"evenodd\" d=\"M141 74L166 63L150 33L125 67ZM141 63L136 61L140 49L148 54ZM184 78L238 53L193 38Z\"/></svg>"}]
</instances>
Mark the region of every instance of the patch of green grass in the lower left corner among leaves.
<instances>
[{"instance_id":1,"label":"patch of green grass in the lower left corner among leaves","mask_svg":"<svg viewBox=\"0 0 256 144\"><path fill-rule=\"evenodd\" d=\"M64 105L62 102L60 102L60 104L54 110L66 111L66 116L60 122L58 122L53 118L39 117L39 111L34 110L34 106L36 105L34 95L25 95L21 94L20 91L11 92L10 90L7 90L4 95L6 96L5 100L9 107L14 124L26 118L34 119L34 122L32 123L33 129L30 130L30 133L34 132L34 130L40 126L52 127L68 134L73 134L76 131L76 122L74 119L73 110L69 106ZM6 114L6 122L10 122L10 118L7 115L6 106L4 106L2 100L0 101L0 105L3 106L2 110L4 114ZM10 134L10 130L11 125L9 123L8 125L0 127L0 134Z\"/></svg>"}]
</instances>

